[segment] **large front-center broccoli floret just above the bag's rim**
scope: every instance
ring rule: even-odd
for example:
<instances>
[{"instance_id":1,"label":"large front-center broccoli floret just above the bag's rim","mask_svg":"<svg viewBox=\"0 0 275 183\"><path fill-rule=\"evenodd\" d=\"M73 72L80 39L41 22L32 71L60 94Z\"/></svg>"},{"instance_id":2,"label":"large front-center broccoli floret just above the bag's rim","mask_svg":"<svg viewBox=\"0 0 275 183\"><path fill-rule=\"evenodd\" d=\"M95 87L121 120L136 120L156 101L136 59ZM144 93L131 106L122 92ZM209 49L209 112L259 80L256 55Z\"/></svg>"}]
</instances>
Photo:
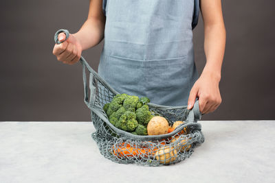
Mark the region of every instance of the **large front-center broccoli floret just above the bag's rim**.
<instances>
[{"instance_id":1,"label":"large front-center broccoli floret just above the bag's rim","mask_svg":"<svg viewBox=\"0 0 275 183\"><path fill-rule=\"evenodd\" d=\"M137 127L138 123L136 120L136 115L134 112L126 111L120 119L118 123L115 123L115 127L120 128L126 132L133 132Z\"/></svg>"}]
</instances>

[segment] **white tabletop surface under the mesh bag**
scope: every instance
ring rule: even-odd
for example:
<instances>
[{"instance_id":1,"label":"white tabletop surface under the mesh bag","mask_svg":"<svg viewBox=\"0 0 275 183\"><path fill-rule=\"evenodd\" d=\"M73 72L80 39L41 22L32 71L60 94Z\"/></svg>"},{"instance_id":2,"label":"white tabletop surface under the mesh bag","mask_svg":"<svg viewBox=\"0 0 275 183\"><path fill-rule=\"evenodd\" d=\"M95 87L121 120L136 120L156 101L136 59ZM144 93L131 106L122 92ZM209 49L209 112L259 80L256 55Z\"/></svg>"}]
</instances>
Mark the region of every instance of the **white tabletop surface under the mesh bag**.
<instances>
[{"instance_id":1,"label":"white tabletop surface under the mesh bag","mask_svg":"<svg viewBox=\"0 0 275 183\"><path fill-rule=\"evenodd\" d=\"M186 160L143 167L105 159L91 122L0 122L0 182L275 182L275 121L199 121Z\"/></svg>"}]
</instances>

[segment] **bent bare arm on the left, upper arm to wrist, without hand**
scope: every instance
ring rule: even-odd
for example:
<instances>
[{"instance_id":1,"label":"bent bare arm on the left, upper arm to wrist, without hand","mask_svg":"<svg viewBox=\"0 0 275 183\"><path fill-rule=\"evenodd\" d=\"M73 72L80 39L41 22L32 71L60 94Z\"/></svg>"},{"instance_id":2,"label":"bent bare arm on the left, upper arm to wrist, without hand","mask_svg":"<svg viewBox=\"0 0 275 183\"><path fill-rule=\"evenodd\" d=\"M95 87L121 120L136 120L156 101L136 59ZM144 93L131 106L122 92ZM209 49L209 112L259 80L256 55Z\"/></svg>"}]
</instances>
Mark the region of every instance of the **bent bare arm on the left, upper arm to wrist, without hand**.
<instances>
[{"instance_id":1,"label":"bent bare arm on the left, upper arm to wrist, without hand","mask_svg":"<svg viewBox=\"0 0 275 183\"><path fill-rule=\"evenodd\" d=\"M94 47L104 38L105 16L102 11L102 0L90 0L87 20L78 32L73 34L85 49Z\"/></svg>"}]
</instances>

